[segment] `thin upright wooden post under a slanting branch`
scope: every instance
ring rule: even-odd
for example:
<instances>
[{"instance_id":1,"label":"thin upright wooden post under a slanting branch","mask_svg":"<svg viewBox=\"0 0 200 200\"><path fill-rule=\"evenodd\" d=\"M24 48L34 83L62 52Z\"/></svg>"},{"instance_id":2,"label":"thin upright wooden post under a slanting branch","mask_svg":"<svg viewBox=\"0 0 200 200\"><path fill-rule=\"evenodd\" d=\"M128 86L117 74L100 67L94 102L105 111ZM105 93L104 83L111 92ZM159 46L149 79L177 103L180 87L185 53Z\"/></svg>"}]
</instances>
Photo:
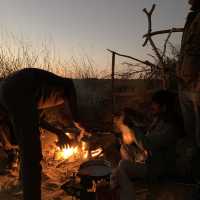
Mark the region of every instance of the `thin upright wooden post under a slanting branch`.
<instances>
[{"instance_id":1,"label":"thin upright wooden post under a slanting branch","mask_svg":"<svg viewBox=\"0 0 200 200\"><path fill-rule=\"evenodd\" d=\"M114 110L115 110L115 52L112 52L112 73L111 73L112 85L111 85L111 95L112 95L112 126L114 127Z\"/></svg>"}]
</instances>

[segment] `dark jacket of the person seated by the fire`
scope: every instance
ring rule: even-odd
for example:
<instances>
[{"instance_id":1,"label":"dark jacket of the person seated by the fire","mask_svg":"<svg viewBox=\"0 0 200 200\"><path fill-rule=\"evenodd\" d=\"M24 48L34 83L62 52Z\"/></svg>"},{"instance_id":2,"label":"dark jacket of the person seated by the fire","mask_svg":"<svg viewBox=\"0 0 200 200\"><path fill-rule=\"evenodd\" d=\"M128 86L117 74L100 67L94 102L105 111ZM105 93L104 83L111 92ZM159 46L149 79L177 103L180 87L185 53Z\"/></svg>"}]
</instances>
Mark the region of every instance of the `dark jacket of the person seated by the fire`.
<instances>
[{"instance_id":1,"label":"dark jacket of the person seated by the fire","mask_svg":"<svg viewBox=\"0 0 200 200\"><path fill-rule=\"evenodd\" d=\"M149 152L147 167L150 176L168 175L175 169L179 131L174 123L158 118L143 138L144 147Z\"/></svg>"}]
</instances>

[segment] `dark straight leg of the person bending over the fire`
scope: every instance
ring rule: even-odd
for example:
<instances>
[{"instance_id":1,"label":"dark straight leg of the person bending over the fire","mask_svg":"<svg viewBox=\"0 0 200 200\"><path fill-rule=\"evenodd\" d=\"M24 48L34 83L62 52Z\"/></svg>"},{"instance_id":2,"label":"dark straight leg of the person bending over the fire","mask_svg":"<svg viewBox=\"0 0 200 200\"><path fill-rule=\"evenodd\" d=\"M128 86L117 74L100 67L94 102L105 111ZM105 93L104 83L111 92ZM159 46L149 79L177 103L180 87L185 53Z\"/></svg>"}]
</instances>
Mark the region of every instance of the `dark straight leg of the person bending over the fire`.
<instances>
[{"instance_id":1,"label":"dark straight leg of the person bending over the fire","mask_svg":"<svg viewBox=\"0 0 200 200\"><path fill-rule=\"evenodd\" d=\"M36 110L27 107L12 118L20 147L20 167L24 200L41 200L42 158Z\"/></svg>"}]
</instances>

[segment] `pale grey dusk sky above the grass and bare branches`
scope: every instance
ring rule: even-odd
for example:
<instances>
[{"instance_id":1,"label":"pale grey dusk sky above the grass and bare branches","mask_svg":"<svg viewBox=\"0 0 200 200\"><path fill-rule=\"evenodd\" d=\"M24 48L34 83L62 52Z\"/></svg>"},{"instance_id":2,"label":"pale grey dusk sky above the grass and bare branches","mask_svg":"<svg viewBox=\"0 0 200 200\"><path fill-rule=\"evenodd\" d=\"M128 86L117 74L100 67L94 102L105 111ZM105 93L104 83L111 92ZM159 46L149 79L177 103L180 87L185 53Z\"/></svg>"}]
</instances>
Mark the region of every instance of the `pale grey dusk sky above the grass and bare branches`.
<instances>
[{"instance_id":1,"label":"pale grey dusk sky above the grass and bare branches","mask_svg":"<svg viewBox=\"0 0 200 200\"><path fill-rule=\"evenodd\" d=\"M106 66L107 48L145 59L142 9L153 3L154 30L184 25L187 0L0 0L0 28L4 38L10 32L35 45L46 41L65 59L87 54ZM180 43L180 34L173 41Z\"/></svg>"}]
</instances>

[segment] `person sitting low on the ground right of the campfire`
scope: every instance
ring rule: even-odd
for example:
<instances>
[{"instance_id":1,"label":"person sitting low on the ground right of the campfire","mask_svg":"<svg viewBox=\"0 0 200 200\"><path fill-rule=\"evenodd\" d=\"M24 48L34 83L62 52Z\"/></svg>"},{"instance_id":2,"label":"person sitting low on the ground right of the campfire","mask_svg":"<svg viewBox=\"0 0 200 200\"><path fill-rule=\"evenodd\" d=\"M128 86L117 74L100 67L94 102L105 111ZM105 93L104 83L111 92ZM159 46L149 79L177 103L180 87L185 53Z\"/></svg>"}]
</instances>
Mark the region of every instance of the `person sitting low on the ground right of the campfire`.
<instances>
[{"instance_id":1,"label":"person sitting low on the ground right of the campfire","mask_svg":"<svg viewBox=\"0 0 200 200\"><path fill-rule=\"evenodd\" d=\"M175 120L174 103L173 95L167 90L153 94L153 122L146 134L134 121L134 112L130 109L115 118L123 145L122 159L111 176L111 188L120 193L120 200L135 199L132 179L156 179L175 169L175 149L180 128L177 118Z\"/></svg>"}]
</instances>

